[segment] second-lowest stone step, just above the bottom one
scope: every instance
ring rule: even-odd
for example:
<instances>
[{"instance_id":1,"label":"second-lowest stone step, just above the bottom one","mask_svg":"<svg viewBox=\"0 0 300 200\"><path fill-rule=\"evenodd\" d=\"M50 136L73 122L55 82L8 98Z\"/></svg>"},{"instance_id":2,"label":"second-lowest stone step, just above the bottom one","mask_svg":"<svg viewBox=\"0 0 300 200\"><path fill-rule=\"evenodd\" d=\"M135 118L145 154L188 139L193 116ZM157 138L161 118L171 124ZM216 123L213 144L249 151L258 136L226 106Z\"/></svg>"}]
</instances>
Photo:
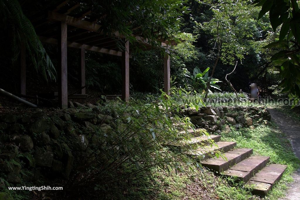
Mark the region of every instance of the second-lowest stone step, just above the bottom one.
<instances>
[{"instance_id":1,"label":"second-lowest stone step, just above the bottom one","mask_svg":"<svg viewBox=\"0 0 300 200\"><path fill-rule=\"evenodd\" d=\"M270 157L268 156L250 156L222 172L222 174L227 177L234 176L237 180L246 183L253 177L253 174L256 174L267 165L269 159Z\"/></svg>"}]
</instances>

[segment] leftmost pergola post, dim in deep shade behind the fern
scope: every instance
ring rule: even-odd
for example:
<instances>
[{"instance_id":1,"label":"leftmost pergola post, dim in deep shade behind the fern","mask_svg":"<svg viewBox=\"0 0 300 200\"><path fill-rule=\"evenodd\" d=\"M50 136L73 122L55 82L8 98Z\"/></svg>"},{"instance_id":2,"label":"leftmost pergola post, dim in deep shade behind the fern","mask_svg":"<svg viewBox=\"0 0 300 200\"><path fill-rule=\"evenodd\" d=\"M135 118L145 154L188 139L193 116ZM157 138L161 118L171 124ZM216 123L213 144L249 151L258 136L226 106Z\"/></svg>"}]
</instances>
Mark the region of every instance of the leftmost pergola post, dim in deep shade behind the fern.
<instances>
[{"instance_id":1,"label":"leftmost pergola post, dim in deep shade behind the fern","mask_svg":"<svg viewBox=\"0 0 300 200\"><path fill-rule=\"evenodd\" d=\"M26 46L23 42L20 49L20 67L20 94L26 95Z\"/></svg>"}]
</instances>

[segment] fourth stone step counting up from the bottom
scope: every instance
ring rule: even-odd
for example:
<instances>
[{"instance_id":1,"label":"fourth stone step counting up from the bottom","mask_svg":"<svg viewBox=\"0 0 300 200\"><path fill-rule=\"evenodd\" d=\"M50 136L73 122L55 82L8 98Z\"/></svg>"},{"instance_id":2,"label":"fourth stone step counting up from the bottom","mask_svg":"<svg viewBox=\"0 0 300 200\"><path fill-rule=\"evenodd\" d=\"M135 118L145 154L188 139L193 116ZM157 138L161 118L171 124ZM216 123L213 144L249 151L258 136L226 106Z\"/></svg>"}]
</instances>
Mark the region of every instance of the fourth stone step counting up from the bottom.
<instances>
[{"instance_id":1,"label":"fourth stone step counting up from the bottom","mask_svg":"<svg viewBox=\"0 0 300 200\"><path fill-rule=\"evenodd\" d=\"M216 142L215 145L206 145L199 147L196 150L188 152L188 155L200 157L201 159L207 159L215 155L216 151L221 153L233 149L236 145L236 142Z\"/></svg>"}]
</instances>

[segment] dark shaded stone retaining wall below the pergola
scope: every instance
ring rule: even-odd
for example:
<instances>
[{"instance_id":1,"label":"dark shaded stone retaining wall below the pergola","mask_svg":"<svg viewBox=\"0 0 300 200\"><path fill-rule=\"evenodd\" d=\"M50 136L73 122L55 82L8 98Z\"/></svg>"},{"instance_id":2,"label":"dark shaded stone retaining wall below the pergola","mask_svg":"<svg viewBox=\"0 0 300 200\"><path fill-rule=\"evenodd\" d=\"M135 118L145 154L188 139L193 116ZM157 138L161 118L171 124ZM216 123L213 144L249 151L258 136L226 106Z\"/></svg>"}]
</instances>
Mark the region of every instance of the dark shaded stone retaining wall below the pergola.
<instances>
[{"instance_id":1,"label":"dark shaded stone retaining wall below the pergola","mask_svg":"<svg viewBox=\"0 0 300 200\"><path fill-rule=\"evenodd\" d=\"M112 116L100 113L99 106L75 102L74 107L78 109L61 114L0 114L0 173L4 174L3 178L14 184L35 182L40 177L68 178L89 143L92 144L88 147L88 155L94 153L92 146L99 142L97 134L121 131L125 125L117 126ZM96 130L95 138L91 137Z\"/></svg>"}]
</instances>

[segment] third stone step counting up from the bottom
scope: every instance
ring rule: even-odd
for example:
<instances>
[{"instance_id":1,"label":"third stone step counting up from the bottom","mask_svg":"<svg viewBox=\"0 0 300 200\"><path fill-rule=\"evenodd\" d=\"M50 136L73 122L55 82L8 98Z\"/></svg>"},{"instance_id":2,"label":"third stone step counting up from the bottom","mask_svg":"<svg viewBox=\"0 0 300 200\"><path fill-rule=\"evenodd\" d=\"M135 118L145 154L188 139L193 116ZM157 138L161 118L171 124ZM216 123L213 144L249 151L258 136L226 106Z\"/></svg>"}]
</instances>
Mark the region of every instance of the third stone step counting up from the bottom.
<instances>
[{"instance_id":1,"label":"third stone step counting up from the bottom","mask_svg":"<svg viewBox=\"0 0 300 200\"><path fill-rule=\"evenodd\" d=\"M201 164L214 172L220 173L229 169L229 167L234 166L236 163L248 158L252 153L253 149L234 149L223 154L223 157L225 157L226 160L224 160L223 157L213 157L201 162Z\"/></svg>"}]
</instances>

